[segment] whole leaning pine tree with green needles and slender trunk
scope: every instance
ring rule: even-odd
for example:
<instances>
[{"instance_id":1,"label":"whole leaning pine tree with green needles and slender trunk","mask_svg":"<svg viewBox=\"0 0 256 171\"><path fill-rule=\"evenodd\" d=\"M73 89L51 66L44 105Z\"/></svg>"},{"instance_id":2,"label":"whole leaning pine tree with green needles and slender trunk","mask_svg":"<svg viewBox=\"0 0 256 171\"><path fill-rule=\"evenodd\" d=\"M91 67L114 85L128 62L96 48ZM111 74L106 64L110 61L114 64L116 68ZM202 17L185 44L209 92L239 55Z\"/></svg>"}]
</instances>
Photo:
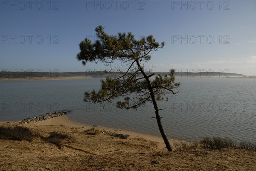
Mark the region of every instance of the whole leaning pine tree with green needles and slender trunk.
<instances>
[{"instance_id":1,"label":"whole leaning pine tree with green needles and slender trunk","mask_svg":"<svg viewBox=\"0 0 256 171\"><path fill-rule=\"evenodd\" d=\"M109 65L115 60L119 60L122 62L125 72L120 72L119 78L106 77L102 79L101 89L85 92L84 101L105 103L123 97L122 101L117 101L117 107L125 109L137 109L148 101L153 102L160 133L166 148L168 151L172 151L163 129L157 101L163 100L167 94L175 95L180 83L175 83L175 70L170 70L168 75L157 75L154 79L150 79L154 74L145 71L143 67L143 62L150 60L151 52L163 48L164 42L159 45L153 35L136 40L131 32L108 35L103 26L98 26L95 31L99 39L94 43L87 38L81 41L77 59L82 61L83 65L88 62L97 63L97 61Z\"/></svg>"}]
</instances>

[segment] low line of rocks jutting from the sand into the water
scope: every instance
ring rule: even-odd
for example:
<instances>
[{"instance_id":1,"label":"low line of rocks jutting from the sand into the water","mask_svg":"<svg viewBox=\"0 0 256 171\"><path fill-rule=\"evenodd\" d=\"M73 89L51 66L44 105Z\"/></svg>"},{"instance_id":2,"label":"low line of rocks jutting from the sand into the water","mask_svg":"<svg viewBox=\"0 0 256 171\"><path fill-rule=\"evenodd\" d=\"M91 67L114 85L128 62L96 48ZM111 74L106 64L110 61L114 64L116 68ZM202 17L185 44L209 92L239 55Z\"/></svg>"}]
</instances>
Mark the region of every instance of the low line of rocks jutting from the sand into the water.
<instances>
[{"instance_id":1,"label":"low line of rocks jutting from the sand into the water","mask_svg":"<svg viewBox=\"0 0 256 171\"><path fill-rule=\"evenodd\" d=\"M57 117L57 116L63 116L64 114L67 114L69 113L69 111L58 111L58 112L55 112L55 113L46 113L45 115L40 115L40 116L35 116L35 117L32 117L32 118L27 118L27 119L23 119L21 121L19 121L18 123L19 124L30 124L30 123L35 123L35 122L39 122L39 121L45 121L46 119L49 119L49 118L54 118L54 117Z\"/></svg>"}]
</instances>

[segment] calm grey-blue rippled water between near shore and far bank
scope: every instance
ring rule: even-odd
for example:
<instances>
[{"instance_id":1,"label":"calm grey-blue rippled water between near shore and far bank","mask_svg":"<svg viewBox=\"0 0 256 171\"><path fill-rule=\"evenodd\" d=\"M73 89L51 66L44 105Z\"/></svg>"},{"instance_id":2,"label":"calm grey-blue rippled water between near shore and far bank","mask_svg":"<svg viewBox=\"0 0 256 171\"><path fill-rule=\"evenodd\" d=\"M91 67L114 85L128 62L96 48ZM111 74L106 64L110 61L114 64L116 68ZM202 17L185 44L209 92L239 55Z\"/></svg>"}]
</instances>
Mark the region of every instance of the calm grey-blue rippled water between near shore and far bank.
<instances>
[{"instance_id":1,"label":"calm grey-blue rippled water between near shore and far bank","mask_svg":"<svg viewBox=\"0 0 256 171\"><path fill-rule=\"evenodd\" d=\"M72 110L67 118L83 124L160 136L153 104L121 110L111 104L83 102L86 90L99 80L0 82L0 120L24 119L49 111ZM204 136L256 141L256 81L236 78L179 78L176 98L158 102L163 126L172 139Z\"/></svg>"}]
</instances>

